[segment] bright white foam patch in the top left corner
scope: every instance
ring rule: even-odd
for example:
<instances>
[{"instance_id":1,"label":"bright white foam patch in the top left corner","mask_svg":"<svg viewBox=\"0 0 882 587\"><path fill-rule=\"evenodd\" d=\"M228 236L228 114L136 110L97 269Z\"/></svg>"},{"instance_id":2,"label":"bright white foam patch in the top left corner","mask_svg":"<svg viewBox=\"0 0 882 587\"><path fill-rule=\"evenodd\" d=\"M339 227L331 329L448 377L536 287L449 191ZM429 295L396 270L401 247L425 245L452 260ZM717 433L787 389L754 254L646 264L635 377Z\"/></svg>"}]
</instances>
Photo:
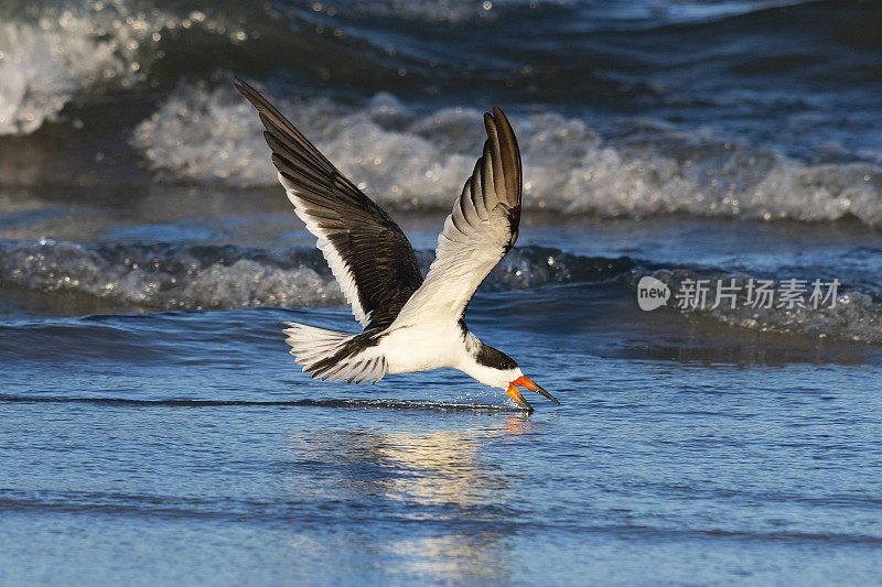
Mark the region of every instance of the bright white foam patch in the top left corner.
<instances>
[{"instance_id":1,"label":"bright white foam patch in the top left corner","mask_svg":"<svg viewBox=\"0 0 882 587\"><path fill-rule=\"evenodd\" d=\"M42 6L14 17L0 15L0 135L35 131L87 90L144 79L170 30L200 28L232 42L244 34L202 12L179 17L127 0Z\"/></svg>"}]
</instances>

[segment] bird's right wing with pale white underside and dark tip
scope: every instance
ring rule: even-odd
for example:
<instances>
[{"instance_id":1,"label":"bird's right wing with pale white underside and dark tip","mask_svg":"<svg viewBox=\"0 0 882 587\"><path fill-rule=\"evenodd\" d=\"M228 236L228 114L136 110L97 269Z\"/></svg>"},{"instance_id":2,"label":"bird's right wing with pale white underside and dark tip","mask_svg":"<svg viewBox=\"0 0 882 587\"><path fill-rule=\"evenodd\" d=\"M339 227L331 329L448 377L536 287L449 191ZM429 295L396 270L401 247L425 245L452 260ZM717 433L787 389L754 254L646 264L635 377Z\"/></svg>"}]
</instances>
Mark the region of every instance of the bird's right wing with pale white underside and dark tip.
<instances>
[{"instance_id":1,"label":"bird's right wing with pale white underside and dark tip","mask_svg":"<svg viewBox=\"0 0 882 587\"><path fill-rule=\"evenodd\" d=\"M485 113L484 126L484 153L444 221L426 281L401 308L396 325L429 315L462 318L475 290L517 240L520 151L502 110Z\"/></svg>"}]
</instances>

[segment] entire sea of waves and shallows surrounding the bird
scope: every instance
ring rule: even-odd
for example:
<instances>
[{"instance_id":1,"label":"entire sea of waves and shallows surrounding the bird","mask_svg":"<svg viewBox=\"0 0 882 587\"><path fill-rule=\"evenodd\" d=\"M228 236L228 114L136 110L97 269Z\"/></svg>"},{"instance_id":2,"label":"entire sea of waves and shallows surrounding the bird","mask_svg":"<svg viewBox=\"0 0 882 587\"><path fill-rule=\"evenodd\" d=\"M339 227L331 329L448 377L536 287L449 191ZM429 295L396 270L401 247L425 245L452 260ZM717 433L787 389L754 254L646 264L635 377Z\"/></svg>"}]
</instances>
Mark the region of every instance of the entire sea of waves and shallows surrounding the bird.
<instances>
[{"instance_id":1,"label":"entire sea of waves and shallows surrounding the bird","mask_svg":"<svg viewBox=\"0 0 882 587\"><path fill-rule=\"evenodd\" d=\"M234 75L423 268L506 110L469 324L561 406L299 373L282 322L355 323ZM879 584L880 113L875 2L4 2L0 583Z\"/></svg>"}]
</instances>

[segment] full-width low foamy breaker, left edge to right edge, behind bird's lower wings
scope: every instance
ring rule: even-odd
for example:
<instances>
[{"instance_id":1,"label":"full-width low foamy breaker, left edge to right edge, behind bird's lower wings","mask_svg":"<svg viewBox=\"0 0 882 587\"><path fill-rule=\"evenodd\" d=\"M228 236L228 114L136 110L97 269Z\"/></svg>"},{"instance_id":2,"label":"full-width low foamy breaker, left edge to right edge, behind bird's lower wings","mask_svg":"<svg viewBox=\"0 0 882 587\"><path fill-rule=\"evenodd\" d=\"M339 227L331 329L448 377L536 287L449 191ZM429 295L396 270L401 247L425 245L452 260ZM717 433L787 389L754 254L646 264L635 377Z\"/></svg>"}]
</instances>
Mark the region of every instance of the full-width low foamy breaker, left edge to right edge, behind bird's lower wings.
<instances>
[{"instance_id":1,"label":"full-width low foamy breaker, left edge to right edge, behind bird's lower wings","mask_svg":"<svg viewBox=\"0 0 882 587\"><path fill-rule=\"evenodd\" d=\"M423 272L433 258L418 251ZM482 285L484 291L515 291L566 283L604 283L621 287L623 303L635 304L634 290L652 275L677 292L687 279L735 279L690 268L646 269L628 258L590 258L542 247L513 249ZM220 244L83 244L0 242L0 284L45 293L75 292L121 309L204 309L255 306L341 306L345 301L318 250L269 250ZM795 307L677 309L662 312L716 319L757 331L789 333L867 344L882 344L882 298L843 284L836 305Z\"/></svg>"}]
</instances>

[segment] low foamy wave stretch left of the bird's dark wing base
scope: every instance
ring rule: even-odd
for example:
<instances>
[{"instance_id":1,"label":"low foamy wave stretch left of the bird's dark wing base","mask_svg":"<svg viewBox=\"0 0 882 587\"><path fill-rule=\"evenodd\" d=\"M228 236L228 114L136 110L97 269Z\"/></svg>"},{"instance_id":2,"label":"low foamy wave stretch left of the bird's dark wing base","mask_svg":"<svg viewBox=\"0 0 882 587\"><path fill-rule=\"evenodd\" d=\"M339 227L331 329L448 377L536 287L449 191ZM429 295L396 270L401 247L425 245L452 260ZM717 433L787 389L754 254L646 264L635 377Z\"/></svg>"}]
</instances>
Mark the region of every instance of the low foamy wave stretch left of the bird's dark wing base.
<instances>
[{"instance_id":1,"label":"low foamy wave stretch left of the bird's dark wing base","mask_svg":"<svg viewBox=\"0 0 882 587\"><path fill-rule=\"evenodd\" d=\"M77 292L122 307L229 308L340 305L332 279L305 262L256 259L235 247L0 243L0 281ZM258 256L266 253L257 251ZM305 256L309 259L309 256ZM318 267L318 265L316 265Z\"/></svg>"}]
</instances>

